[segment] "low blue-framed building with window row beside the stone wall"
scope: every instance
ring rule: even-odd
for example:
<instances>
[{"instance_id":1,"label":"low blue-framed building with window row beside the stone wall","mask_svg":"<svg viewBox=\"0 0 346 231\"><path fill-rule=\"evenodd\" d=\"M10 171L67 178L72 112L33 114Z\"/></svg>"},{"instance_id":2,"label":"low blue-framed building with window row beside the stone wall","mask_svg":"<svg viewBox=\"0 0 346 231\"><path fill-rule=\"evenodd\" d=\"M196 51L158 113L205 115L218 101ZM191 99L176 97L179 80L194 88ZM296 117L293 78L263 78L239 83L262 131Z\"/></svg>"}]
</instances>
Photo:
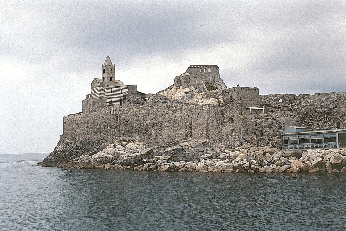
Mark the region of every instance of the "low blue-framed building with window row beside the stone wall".
<instances>
[{"instance_id":1,"label":"low blue-framed building with window row beside the stone wall","mask_svg":"<svg viewBox=\"0 0 346 231\"><path fill-rule=\"evenodd\" d=\"M286 126L283 148L329 149L346 148L346 129L307 131L304 127Z\"/></svg>"}]
</instances>

